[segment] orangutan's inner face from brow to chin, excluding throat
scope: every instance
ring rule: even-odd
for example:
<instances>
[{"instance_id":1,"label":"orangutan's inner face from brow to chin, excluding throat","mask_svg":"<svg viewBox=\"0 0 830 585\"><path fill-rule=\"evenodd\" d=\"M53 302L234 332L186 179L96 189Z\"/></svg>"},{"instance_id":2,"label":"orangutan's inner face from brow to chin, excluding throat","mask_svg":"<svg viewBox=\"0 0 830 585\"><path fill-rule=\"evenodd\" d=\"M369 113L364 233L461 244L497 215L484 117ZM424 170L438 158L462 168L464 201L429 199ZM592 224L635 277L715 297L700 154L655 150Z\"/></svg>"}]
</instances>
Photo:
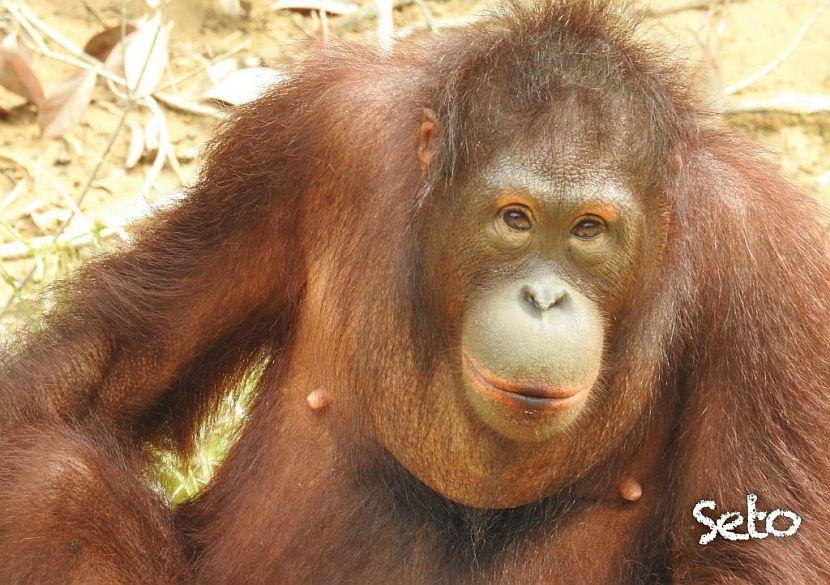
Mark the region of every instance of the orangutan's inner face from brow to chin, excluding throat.
<instances>
[{"instance_id":1,"label":"orangutan's inner face from brow to chin, excluding throat","mask_svg":"<svg viewBox=\"0 0 830 585\"><path fill-rule=\"evenodd\" d=\"M633 201L608 183L559 187L511 160L468 191L467 225L479 233L467 235L481 246L470 263L491 276L462 317L465 394L504 437L551 440L599 377L600 304L621 284L609 277L628 256L621 213Z\"/></svg>"}]
</instances>

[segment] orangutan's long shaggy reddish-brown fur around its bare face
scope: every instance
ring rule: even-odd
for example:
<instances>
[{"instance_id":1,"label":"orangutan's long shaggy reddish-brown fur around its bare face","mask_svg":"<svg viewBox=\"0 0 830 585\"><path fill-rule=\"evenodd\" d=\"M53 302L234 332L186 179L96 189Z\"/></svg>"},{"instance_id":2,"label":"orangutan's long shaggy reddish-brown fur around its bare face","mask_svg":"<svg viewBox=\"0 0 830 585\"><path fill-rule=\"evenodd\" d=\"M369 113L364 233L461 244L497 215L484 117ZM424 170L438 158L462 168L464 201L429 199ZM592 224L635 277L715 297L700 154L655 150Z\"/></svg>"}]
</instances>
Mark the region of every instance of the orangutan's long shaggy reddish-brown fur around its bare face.
<instances>
[{"instance_id":1,"label":"orangutan's long shaggy reddish-brown fur around its bare face","mask_svg":"<svg viewBox=\"0 0 830 585\"><path fill-rule=\"evenodd\" d=\"M329 50L240 109L186 200L62 284L3 358L0 580L830 582L821 212L714 128L634 27L605 2L509 5L391 56ZM426 107L443 132L424 174ZM606 360L619 419L584 441L613 456L547 500L466 508L408 475L361 407L417 388L445 345L424 205L454 196L494 128L520 141L568 120L628 153L663 222ZM147 487L147 445L187 453L254 366L238 443L174 513ZM304 397L321 386L351 414L313 433ZM640 453L660 465L633 513L597 494ZM694 504L742 510L747 493L798 512L797 535L700 546Z\"/></svg>"}]
</instances>

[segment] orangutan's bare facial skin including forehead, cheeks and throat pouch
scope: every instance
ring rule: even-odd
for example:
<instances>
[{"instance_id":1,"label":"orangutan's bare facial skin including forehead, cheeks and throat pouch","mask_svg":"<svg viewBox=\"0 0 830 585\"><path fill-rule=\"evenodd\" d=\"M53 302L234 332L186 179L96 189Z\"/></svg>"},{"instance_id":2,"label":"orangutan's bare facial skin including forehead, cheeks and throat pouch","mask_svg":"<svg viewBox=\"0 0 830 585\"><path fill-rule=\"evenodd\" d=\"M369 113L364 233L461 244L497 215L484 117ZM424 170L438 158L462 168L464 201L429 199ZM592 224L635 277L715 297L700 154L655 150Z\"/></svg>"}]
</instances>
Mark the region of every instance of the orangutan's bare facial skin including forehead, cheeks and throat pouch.
<instances>
[{"instance_id":1,"label":"orangutan's bare facial skin including forehead, cheeks and throat pouch","mask_svg":"<svg viewBox=\"0 0 830 585\"><path fill-rule=\"evenodd\" d=\"M426 120L417 157L440 131ZM384 446L454 501L514 507L613 452L613 324L657 225L613 161L573 140L504 143L423 210L429 314L447 336L427 387L374 412ZM653 213L652 213L653 215ZM448 253L451 250L452 253ZM610 417L610 418L609 418Z\"/></svg>"}]
</instances>

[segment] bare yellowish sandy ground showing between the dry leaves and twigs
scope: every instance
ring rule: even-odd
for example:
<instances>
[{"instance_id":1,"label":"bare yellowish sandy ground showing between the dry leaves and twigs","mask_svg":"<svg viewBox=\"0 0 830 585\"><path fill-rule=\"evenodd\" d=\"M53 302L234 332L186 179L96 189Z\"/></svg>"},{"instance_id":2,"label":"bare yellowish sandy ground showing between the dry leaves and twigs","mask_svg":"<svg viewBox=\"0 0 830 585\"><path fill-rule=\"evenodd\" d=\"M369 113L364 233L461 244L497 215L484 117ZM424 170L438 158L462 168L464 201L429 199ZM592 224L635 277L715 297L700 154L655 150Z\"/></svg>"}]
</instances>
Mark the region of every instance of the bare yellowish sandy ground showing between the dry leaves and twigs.
<instances>
[{"instance_id":1,"label":"bare yellowish sandy ground showing between the dry leaves and twigs","mask_svg":"<svg viewBox=\"0 0 830 585\"><path fill-rule=\"evenodd\" d=\"M248 43L234 56L246 65L265 64L289 69L320 43L321 23L315 15L270 12L270 0L254 0L248 18L236 20L218 15L218 0L173 0L169 16L175 23L171 38L171 65L165 84L169 92L198 102L210 85L204 65L217 55ZM822 0L747 0L726 2L710 10L685 11L652 20L648 34L661 35L677 47L678 54L709 55L717 64L724 86L741 81L787 48L793 36L809 20ZM77 46L102 30L103 25L119 22L121 2L118 0L26 0L31 10ZM679 0L654 0L640 6L665 8ZM435 19L465 17L481 10L486 4L472 0L450 2L427 0ZM143 2L128 8L137 16L145 10ZM409 6L396 12L396 26L405 27L423 21L422 12ZM336 25L329 18L329 28ZM103 24L102 24L103 23ZM345 33L346 37L362 37L372 42L373 23L363 31ZM0 31L8 32L14 22L0 10ZM706 45L701 53L695 45ZM692 47L692 49L689 49ZM64 63L43 57L35 66L45 85L61 80L75 70ZM189 76L181 81L183 76ZM180 80L178 83L177 80ZM730 103L765 99L783 91L799 94L830 96L830 9L825 11L783 64L748 89L728 96ZM0 106L13 108L21 98L0 88ZM0 262L5 284L0 283L0 309L12 293L11 280L17 281L32 266L35 272L25 287L27 295L62 274L72 265L78 252L72 246L49 249L31 257L20 258L20 242L37 246L49 236L69 214L68 198L77 198L93 169L101 160L110 135L120 117L118 102L106 85L99 83L94 99L81 123L66 138L44 140L38 136L36 113L31 107L15 108L10 119L0 121ZM192 179L198 167L198 149L214 127L210 117L182 113L164 108L173 148L181 163L177 176L166 167L156 182L150 199L163 197L180 188L181 182ZM146 109L137 108L129 114L130 124L145 125L150 118ZM830 114L793 115L776 112L730 115L726 124L754 136L770 148L772 157L780 161L784 172L803 184L822 201L830 203ZM141 212L143 202L139 189L152 163L148 156L133 169L125 169L129 131L122 131L103 162L81 204L79 216L67 230L83 231L86 220L101 227L124 225ZM29 174L26 188L7 201L16 185ZM62 191L64 194L62 194ZM106 246L81 238L81 254L88 248ZM8 325L22 312L19 303L0 320Z\"/></svg>"}]
</instances>

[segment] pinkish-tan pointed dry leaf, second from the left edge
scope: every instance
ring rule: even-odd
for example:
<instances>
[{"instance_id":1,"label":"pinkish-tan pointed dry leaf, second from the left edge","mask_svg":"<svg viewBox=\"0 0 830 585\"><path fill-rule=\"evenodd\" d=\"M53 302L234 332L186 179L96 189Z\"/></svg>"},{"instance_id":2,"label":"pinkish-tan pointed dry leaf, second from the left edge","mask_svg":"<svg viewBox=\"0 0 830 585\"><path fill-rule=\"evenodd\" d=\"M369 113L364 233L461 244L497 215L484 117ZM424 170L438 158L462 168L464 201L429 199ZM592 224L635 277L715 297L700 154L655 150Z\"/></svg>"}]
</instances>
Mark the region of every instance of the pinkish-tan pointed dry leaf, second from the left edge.
<instances>
[{"instance_id":1,"label":"pinkish-tan pointed dry leaf, second from the left edge","mask_svg":"<svg viewBox=\"0 0 830 585\"><path fill-rule=\"evenodd\" d=\"M40 106L37 123L44 138L61 136L81 119L92 99L97 75L85 71L59 83Z\"/></svg>"}]
</instances>

